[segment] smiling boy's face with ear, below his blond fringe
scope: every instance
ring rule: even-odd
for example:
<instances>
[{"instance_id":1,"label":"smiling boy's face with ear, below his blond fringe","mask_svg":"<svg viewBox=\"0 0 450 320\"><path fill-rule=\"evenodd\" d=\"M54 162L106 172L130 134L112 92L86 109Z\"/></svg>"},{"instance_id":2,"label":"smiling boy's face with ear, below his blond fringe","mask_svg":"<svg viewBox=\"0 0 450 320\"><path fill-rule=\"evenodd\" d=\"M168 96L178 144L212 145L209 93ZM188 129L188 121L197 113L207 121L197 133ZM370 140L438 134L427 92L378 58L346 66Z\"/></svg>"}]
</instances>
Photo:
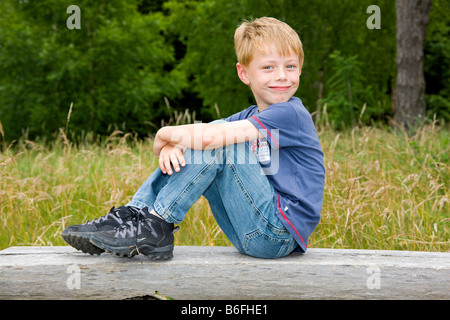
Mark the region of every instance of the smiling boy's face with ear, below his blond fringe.
<instances>
[{"instance_id":1,"label":"smiling boy's face with ear, below his blond fringe","mask_svg":"<svg viewBox=\"0 0 450 320\"><path fill-rule=\"evenodd\" d=\"M290 52L281 56L275 48L265 54L256 51L247 67L236 65L238 76L250 86L259 111L292 98L298 89L301 67L297 55Z\"/></svg>"}]
</instances>

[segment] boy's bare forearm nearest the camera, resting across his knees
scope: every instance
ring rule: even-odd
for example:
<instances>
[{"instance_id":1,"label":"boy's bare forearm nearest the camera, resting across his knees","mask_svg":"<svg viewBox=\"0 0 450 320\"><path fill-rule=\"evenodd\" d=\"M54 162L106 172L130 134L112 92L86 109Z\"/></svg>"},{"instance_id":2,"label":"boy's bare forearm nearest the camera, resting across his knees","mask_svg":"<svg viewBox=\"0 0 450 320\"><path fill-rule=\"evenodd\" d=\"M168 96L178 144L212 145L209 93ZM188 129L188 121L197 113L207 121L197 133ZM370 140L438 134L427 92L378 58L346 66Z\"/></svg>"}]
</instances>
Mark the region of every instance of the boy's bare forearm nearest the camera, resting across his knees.
<instances>
[{"instance_id":1,"label":"boy's bare forearm nearest the camera, resting across his knees","mask_svg":"<svg viewBox=\"0 0 450 320\"><path fill-rule=\"evenodd\" d=\"M216 149L262 136L248 120L163 127L156 134L153 152L159 157L161 149L167 144L194 150Z\"/></svg>"}]
</instances>

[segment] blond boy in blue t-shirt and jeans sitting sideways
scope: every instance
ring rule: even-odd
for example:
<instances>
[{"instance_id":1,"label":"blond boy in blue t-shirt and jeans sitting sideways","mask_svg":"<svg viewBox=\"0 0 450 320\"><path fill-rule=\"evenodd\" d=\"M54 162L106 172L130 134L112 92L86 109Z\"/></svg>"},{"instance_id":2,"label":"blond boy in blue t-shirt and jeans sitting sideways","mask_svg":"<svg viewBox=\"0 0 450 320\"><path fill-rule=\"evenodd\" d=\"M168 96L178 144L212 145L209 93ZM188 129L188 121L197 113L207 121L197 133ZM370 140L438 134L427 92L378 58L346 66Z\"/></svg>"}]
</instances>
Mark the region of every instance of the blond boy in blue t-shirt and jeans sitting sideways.
<instances>
[{"instance_id":1,"label":"blond boy in blue t-shirt and jeans sitting sideways","mask_svg":"<svg viewBox=\"0 0 450 320\"><path fill-rule=\"evenodd\" d=\"M203 195L243 254L279 258L305 252L320 220L323 153L298 89L303 49L287 24L263 17L235 32L237 74L256 105L222 121L161 128L159 168L126 206L64 239L90 254L172 258L174 224Z\"/></svg>"}]
</instances>

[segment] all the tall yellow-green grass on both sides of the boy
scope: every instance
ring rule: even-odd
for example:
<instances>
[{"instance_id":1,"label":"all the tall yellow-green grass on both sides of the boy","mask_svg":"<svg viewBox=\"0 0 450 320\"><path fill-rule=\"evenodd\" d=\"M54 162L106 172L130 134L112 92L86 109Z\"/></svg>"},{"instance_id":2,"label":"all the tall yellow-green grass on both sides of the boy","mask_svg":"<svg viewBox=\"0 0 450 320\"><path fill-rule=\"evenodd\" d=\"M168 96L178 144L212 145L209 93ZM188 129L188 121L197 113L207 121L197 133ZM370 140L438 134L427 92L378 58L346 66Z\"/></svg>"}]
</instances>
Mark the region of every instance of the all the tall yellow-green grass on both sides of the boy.
<instances>
[{"instance_id":1,"label":"all the tall yellow-green grass on both sides of the boy","mask_svg":"<svg viewBox=\"0 0 450 320\"><path fill-rule=\"evenodd\" d=\"M3 132L0 130L3 135ZM327 170L310 247L449 251L450 132L414 136L361 126L319 130ZM114 132L101 142L22 139L0 153L0 249L65 245L60 233L127 203L158 162L152 141ZM230 245L200 198L176 245Z\"/></svg>"}]
</instances>

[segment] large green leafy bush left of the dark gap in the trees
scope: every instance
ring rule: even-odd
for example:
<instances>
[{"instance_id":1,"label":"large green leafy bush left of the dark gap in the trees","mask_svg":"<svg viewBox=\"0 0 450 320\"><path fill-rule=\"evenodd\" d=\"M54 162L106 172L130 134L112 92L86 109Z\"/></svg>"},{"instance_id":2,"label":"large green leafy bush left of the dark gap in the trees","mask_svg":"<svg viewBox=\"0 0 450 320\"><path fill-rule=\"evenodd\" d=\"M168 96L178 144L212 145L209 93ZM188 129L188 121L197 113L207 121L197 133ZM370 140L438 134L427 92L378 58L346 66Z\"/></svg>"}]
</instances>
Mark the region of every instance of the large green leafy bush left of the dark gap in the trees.
<instances>
[{"instance_id":1,"label":"large green leafy bush left of the dark gap in the trees","mask_svg":"<svg viewBox=\"0 0 450 320\"><path fill-rule=\"evenodd\" d=\"M184 77L165 41L161 13L142 15L137 1L78 1L81 29L66 27L70 1L2 2L0 121L7 137L64 127L107 134L111 125L140 134L163 97L180 94ZM9 14L8 14L9 13Z\"/></svg>"}]
</instances>

